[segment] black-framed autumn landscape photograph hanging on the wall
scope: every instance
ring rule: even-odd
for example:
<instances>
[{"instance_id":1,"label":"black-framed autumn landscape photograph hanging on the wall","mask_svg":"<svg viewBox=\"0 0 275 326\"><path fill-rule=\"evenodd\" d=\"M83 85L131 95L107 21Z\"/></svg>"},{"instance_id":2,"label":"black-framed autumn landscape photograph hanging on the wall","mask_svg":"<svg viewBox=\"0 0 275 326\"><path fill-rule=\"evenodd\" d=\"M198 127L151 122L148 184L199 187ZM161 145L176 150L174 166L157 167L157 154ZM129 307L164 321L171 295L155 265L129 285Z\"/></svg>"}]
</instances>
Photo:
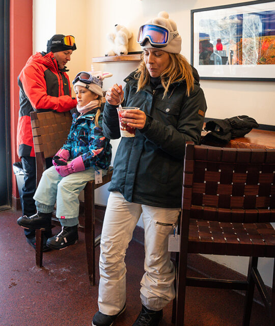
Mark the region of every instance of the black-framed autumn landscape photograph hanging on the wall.
<instances>
[{"instance_id":1,"label":"black-framed autumn landscape photograph hanging on the wall","mask_svg":"<svg viewBox=\"0 0 275 326\"><path fill-rule=\"evenodd\" d=\"M275 81L275 1L191 10L191 64L201 79Z\"/></svg>"}]
</instances>

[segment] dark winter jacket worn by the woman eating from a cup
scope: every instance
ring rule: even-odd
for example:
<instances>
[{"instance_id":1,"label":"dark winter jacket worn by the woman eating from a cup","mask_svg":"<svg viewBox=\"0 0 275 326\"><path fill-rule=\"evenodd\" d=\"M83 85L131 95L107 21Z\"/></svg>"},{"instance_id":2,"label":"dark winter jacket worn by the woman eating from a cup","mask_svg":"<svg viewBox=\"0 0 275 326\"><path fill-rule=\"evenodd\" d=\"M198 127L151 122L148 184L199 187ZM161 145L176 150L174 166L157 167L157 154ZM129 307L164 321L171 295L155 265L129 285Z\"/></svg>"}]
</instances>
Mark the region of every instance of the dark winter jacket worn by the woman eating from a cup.
<instances>
[{"instance_id":1,"label":"dark winter jacket worn by the woman eating from a cup","mask_svg":"<svg viewBox=\"0 0 275 326\"><path fill-rule=\"evenodd\" d=\"M129 202L156 207L181 207L182 171L185 142L198 144L203 127L206 101L198 81L190 96L182 80L170 86L162 99L163 88L147 85L136 93L137 80L132 72L124 81L122 106L136 106L147 119L135 137L121 138L114 161L109 191L118 191ZM116 106L106 102L103 134L120 138Z\"/></svg>"}]
</instances>

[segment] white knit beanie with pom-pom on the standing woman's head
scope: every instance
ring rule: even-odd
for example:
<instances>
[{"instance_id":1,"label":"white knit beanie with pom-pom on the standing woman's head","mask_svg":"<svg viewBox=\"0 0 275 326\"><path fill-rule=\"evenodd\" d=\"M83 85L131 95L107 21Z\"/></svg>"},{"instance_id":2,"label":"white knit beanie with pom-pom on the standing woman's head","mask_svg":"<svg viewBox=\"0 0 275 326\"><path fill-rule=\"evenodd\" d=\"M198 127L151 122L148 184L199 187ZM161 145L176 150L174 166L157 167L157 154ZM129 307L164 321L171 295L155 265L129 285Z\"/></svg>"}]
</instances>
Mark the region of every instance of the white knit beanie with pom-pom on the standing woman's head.
<instances>
[{"instance_id":1,"label":"white knit beanie with pom-pom on the standing woman's head","mask_svg":"<svg viewBox=\"0 0 275 326\"><path fill-rule=\"evenodd\" d=\"M155 24L166 27L170 32L177 32L177 24L174 20L169 19L169 14L165 11L158 13L157 17L150 19L146 24ZM149 41L146 42L143 49L156 48ZM163 50L170 53L180 53L181 51L181 36L177 33L167 46L158 47L159 50Z\"/></svg>"}]
</instances>

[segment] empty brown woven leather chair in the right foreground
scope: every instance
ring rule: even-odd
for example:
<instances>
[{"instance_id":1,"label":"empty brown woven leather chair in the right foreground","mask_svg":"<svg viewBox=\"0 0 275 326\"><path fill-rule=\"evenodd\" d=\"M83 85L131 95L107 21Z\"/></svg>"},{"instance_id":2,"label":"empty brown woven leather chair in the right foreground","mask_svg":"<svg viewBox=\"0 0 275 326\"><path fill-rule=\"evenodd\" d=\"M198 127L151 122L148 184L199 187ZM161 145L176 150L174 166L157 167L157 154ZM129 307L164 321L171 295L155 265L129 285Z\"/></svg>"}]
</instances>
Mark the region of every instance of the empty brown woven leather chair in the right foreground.
<instances>
[{"instance_id":1,"label":"empty brown woven leather chair in the right foreground","mask_svg":"<svg viewBox=\"0 0 275 326\"><path fill-rule=\"evenodd\" d=\"M270 295L258 257L275 257L275 149L235 149L186 144L180 253L172 320L184 321L185 287L245 290L243 325L250 324L257 286L275 325L275 270ZM186 277L187 254L248 256L246 281ZM239 307L236 307L239 309ZM232 312L231 312L232 313Z\"/></svg>"}]
</instances>

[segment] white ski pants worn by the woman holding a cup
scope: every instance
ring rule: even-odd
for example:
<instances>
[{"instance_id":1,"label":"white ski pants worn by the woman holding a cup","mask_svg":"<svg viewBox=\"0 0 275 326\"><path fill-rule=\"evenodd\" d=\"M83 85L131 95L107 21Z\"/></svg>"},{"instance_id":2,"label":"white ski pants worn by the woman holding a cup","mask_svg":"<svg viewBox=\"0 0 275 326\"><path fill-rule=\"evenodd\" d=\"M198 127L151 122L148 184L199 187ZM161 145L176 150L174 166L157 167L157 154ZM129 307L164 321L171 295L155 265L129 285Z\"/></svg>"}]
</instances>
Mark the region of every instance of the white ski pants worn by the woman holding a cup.
<instances>
[{"instance_id":1,"label":"white ski pants worn by the woman holding a cup","mask_svg":"<svg viewBox=\"0 0 275 326\"><path fill-rule=\"evenodd\" d=\"M126 302L124 257L141 213L145 231L142 304L157 311L173 300L175 270L168 252L168 235L173 232L179 212L180 208L129 203L119 192L111 192L100 243L98 306L101 313L115 315Z\"/></svg>"}]
</instances>

